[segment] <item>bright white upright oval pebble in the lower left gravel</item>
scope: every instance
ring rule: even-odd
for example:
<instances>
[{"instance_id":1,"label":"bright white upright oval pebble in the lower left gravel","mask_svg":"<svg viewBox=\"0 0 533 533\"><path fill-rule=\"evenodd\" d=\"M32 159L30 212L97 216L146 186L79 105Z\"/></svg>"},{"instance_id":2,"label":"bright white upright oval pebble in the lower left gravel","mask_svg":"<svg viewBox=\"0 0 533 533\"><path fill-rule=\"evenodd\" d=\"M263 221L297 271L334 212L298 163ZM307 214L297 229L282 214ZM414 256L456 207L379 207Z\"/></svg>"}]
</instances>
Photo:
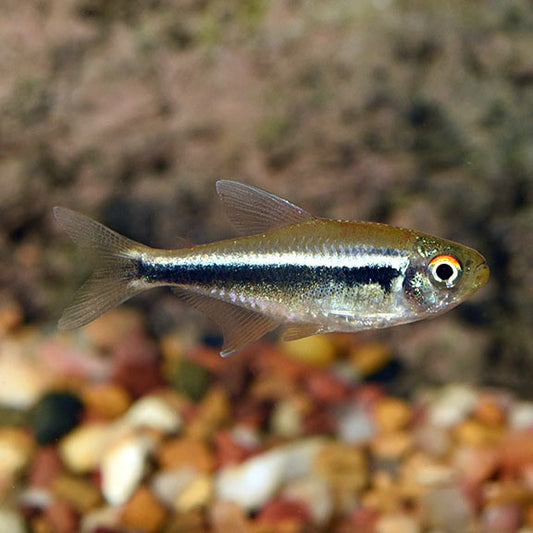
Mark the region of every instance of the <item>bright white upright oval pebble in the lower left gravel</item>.
<instances>
[{"instance_id":1,"label":"bright white upright oval pebble in the lower left gravel","mask_svg":"<svg viewBox=\"0 0 533 533\"><path fill-rule=\"evenodd\" d=\"M139 485L153 441L128 435L115 442L102 458L102 493L111 505L125 503Z\"/></svg>"}]
</instances>

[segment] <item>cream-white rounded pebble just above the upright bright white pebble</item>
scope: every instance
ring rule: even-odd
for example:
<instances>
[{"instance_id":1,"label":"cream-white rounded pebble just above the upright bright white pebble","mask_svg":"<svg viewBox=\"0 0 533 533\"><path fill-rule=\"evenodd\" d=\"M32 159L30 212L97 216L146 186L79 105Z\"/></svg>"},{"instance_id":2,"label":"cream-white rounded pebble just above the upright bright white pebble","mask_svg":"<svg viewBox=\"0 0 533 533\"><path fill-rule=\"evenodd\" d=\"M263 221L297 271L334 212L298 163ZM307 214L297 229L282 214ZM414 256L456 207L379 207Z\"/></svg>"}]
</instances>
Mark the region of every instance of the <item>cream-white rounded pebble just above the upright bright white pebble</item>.
<instances>
[{"instance_id":1,"label":"cream-white rounded pebble just above the upright bright white pebble","mask_svg":"<svg viewBox=\"0 0 533 533\"><path fill-rule=\"evenodd\" d=\"M181 427L180 415L156 396L147 396L135 402L122 421L132 428L147 427L166 433L176 432Z\"/></svg>"}]
</instances>

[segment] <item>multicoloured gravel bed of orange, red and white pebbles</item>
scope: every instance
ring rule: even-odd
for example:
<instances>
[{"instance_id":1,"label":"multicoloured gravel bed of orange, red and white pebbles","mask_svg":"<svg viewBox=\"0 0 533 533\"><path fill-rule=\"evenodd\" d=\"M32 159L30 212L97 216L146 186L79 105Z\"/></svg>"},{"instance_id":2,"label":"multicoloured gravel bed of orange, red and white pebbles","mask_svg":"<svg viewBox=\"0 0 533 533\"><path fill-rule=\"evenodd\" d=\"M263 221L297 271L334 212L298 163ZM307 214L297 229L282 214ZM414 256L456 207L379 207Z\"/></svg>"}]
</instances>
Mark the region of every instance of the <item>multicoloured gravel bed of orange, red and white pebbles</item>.
<instances>
[{"instance_id":1,"label":"multicoloured gravel bed of orange, red and white pebbles","mask_svg":"<svg viewBox=\"0 0 533 533\"><path fill-rule=\"evenodd\" d=\"M387 393L355 335L231 358L119 309L45 334L0 313L0 532L533 531L533 404Z\"/></svg>"}]
</instances>

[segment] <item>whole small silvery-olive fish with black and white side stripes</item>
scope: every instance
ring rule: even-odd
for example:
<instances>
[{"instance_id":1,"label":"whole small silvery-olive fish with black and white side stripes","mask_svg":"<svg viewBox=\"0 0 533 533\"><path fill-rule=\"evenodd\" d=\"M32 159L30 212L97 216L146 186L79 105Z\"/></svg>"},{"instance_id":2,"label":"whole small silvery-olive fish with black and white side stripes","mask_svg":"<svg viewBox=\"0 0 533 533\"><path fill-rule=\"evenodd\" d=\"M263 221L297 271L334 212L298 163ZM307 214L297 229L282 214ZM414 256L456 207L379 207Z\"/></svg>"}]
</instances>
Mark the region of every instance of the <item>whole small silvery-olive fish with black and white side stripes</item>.
<instances>
[{"instance_id":1,"label":"whole small silvery-olive fish with black and white side stripes","mask_svg":"<svg viewBox=\"0 0 533 533\"><path fill-rule=\"evenodd\" d=\"M218 323L222 356L282 327L284 340L386 328L440 315L489 277L476 250L377 222L315 217L251 185L220 180L241 236L178 248L135 242L63 207L54 215L95 268L61 316L78 328L153 287L170 286Z\"/></svg>"}]
</instances>

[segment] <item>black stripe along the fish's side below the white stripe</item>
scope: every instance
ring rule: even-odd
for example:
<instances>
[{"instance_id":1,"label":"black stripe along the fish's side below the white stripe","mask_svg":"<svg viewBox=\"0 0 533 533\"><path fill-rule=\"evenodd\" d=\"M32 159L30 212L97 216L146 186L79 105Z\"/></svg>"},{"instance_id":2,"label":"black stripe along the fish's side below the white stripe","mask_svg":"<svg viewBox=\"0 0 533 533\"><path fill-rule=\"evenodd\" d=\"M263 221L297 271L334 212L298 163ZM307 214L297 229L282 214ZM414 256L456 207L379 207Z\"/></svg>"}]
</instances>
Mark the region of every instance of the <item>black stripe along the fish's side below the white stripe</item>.
<instances>
[{"instance_id":1,"label":"black stripe along the fish's side below the white stripe","mask_svg":"<svg viewBox=\"0 0 533 533\"><path fill-rule=\"evenodd\" d=\"M348 286L377 283L386 292L401 272L391 266L169 265L139 261L138 275L147 282L180 285L237 286L248 283L302 288L331 282Z\"/></svg>"}]
</instances>

